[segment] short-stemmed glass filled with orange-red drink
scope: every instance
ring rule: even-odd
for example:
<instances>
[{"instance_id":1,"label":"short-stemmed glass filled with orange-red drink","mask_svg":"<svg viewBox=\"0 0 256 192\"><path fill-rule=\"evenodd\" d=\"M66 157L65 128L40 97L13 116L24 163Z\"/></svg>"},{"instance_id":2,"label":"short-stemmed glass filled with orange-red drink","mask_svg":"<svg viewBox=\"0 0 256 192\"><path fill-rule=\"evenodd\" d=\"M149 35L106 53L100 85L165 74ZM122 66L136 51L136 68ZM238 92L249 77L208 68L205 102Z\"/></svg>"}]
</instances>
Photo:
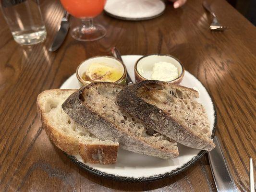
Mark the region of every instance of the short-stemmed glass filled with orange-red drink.
<instances>
[{"instance_id":1,"label":"short-stemmed glass filled with orange-red drink","mask_svg":"<svg viewBox=\"0 0 256 192\"><path fill-rule=\"evenodd\" d=\"M106 35L106 29L93 24L93 18L99 15L106 0L61 0L63 7L74 17L82 20L82 25L72 30L72 36L79 41L94 41Z\"/></svg>"}]
</instances>

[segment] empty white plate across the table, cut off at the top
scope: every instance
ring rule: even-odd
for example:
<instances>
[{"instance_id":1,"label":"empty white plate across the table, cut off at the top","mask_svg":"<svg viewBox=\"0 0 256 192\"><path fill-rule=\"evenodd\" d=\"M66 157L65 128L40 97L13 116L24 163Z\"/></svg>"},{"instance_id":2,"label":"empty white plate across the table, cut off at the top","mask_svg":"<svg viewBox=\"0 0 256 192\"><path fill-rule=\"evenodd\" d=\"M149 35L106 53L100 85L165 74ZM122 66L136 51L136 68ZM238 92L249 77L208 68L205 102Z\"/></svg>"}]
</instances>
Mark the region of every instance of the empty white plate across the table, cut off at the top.
<instances>
[{"instance_id":1,"label":"empty white plate across the table, cut off at the top","mask_svg":"<svg viewBox=\"0 0 256 192\"><path fill-rule=\"evenodd\" d=\"M104 10L117 19L140 21L161 15L165 4L161 0L107 0Z\"/></svg>"}]
</instances>

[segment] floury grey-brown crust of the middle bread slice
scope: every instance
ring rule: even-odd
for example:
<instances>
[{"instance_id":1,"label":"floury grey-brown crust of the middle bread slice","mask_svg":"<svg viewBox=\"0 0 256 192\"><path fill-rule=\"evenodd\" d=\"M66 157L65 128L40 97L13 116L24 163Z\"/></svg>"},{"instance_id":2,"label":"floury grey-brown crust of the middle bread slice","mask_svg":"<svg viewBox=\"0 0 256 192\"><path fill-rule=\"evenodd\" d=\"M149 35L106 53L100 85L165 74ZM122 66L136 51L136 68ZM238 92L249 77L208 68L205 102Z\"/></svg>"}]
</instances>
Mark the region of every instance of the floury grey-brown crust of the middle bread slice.
<instances>
[{"instance_id":1,"label":"floury grey-brown crust of the middle bread slice","mask_svg":"<svg viewBox=\"0 0 256 192\"><path fill-rule=\"evenodd\" d=\"M173 143L173 149L165 149L154 144L148 144L140 137L131 134L131 132L122 130L122 123L111 123L106 117L99 115L95 108L86 105L86 89L95 86L112 86L113 89L124 88L121 84L108 82L89 84L86 87L76 91L62 104L63 110L78 124L86 127L96 137L101 140L111 140L118 142L119 146L125 150L133 151L148 156L157 156L163 159L170 159L179 155L176 143ZM95 102L100 102L95 98ZM118 107L118 106L116 106Z\"/></svg>"}]
</instances>

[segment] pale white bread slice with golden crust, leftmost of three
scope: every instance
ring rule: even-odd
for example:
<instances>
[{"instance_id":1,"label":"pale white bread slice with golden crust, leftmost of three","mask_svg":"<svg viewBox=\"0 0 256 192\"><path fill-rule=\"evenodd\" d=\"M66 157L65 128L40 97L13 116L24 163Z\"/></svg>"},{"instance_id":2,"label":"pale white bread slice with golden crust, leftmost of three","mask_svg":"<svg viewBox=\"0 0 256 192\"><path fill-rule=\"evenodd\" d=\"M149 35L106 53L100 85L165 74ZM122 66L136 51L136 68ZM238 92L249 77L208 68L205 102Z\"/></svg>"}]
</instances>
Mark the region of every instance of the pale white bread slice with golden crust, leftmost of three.
<instances>
[{"instance_id":1,"label":"pale white bread slice with golden crust, leftmost of three","mask_svg":"<svg viewBox=\"0 0 256 192\"><path fill-rule=\"evenodd\" d=\"M61 108L75 90L46 90L37 97L37 113L50 140L69 155L80 154L85 162L113 164L118 143L101 141L75 123Z\"/></svg>"}]
</instances>

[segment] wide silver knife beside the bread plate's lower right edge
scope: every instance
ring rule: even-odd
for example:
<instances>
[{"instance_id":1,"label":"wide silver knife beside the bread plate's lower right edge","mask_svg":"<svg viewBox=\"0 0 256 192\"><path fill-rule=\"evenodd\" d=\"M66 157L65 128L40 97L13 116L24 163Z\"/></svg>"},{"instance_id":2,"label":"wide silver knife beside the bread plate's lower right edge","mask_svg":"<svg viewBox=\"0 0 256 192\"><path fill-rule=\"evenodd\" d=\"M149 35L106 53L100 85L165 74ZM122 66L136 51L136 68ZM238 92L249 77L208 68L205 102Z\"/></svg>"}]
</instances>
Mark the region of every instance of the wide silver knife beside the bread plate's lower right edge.
<instances>
[{"instance_id":1,"label":"wide silver knife beside the bread plate's lower right edge","mask_svg":"<svg viewBox=\"0 0 256 192\"><path fill-rule=\"evenodd\" d=\"M217 136L214 137L213 142L216 147L208 152L208 157L217 191L237 192L237 188L230 175Z\"/></svg>"}]
</instances>

